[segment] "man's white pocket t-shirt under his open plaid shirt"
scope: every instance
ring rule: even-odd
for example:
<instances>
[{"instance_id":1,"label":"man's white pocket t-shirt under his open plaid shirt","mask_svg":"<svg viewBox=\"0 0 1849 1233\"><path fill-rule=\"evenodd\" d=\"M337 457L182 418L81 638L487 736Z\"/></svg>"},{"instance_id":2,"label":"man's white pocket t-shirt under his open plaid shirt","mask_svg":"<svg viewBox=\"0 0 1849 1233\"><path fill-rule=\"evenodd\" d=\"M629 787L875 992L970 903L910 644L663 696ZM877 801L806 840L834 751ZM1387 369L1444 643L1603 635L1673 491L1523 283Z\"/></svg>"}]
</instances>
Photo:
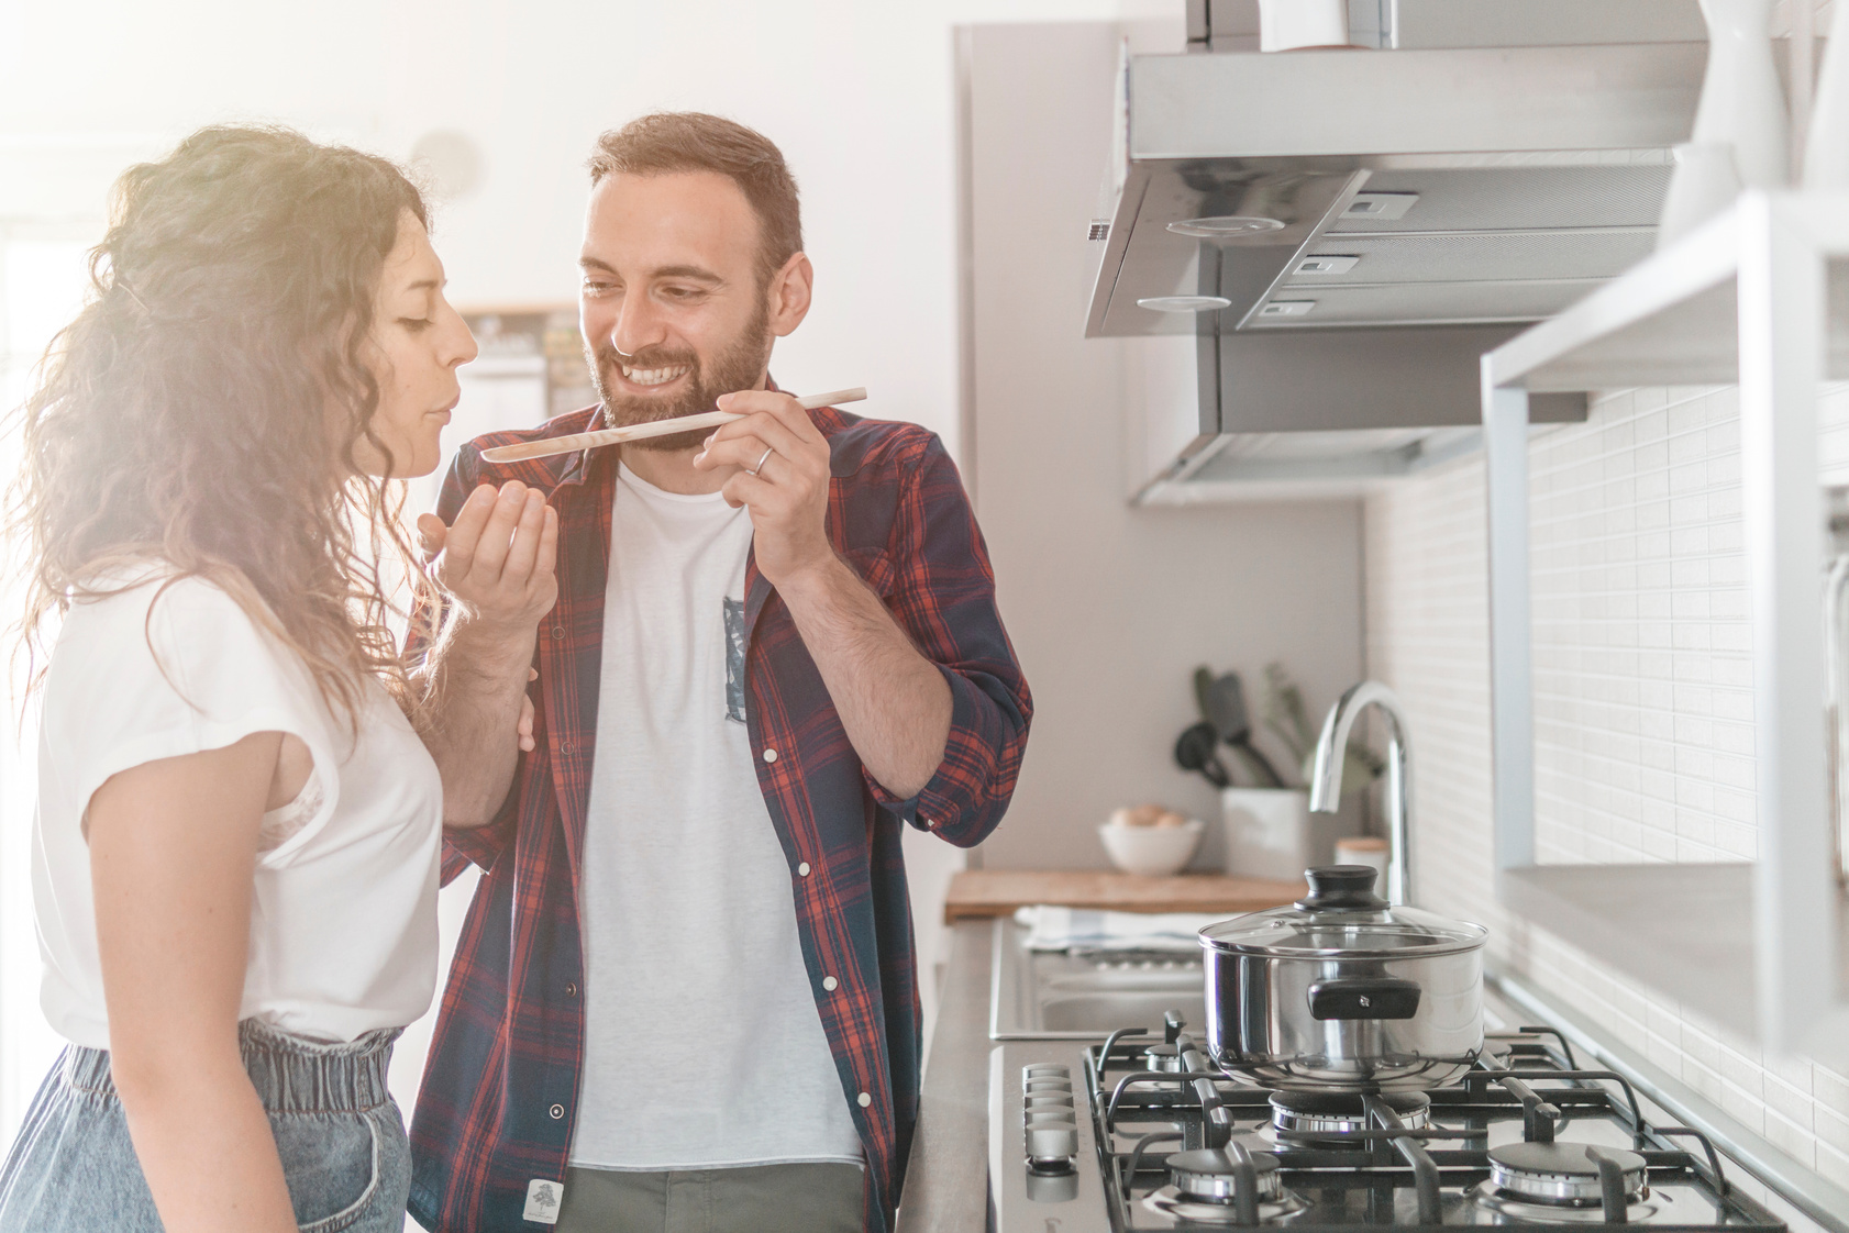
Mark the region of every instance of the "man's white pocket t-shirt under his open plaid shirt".
<instances>
[{"instance_id":1,"label":"man's white pocket t-shirt under his open plaid shirt","mask_svg":"<svg viewBox=\"0 0 1849 1233\"><path fill-rule=\"evenodd\" d=\"M577 1168L862 1159L745 732L749 549L719 494L618 471Z\"/></svg>"}]
</instances>

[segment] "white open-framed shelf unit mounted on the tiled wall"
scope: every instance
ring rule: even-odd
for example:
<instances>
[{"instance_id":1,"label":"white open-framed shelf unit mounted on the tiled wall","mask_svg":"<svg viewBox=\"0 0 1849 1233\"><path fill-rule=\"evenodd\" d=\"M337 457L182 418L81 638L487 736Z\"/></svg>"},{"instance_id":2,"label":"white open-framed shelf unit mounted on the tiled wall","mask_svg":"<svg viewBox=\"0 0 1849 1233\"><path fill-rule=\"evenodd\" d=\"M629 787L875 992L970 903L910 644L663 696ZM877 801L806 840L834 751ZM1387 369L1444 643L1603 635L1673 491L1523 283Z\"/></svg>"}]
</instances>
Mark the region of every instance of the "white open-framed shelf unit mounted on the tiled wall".
<instances>
[{"instance_id":1,"label":"white open-framed shelf unit mounted on the tiled wall","mask_svg":"<svg viewBox=\"0 0 1849 1233\"><path fill-rule=\"evenodd\" d=\"M1849 939L1823 725L1818 396L1849 377L1849 194L1749 192L1483 357L1498 897L1775 1050L1832 1056ZM1758 860L1540 865L1529 601L1529 396L1740 386Z\"/></svg>"}]
</instances>

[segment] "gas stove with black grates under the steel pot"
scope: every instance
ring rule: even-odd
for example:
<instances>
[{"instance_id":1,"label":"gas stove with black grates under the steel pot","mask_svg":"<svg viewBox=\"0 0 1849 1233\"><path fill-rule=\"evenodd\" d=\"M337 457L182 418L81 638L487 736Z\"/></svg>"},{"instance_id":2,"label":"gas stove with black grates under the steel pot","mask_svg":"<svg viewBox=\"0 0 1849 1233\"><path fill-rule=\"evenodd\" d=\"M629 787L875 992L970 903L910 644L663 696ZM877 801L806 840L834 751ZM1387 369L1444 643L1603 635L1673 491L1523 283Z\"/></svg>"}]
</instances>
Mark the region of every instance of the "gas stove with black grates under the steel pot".
<instances>
[{"instance_id":1,"label":"gas stove with black grates under the steel pot","mask_svg":"<svg viewBox=\"0 0 1849 1233\"><path fill-rule=\"evenodd\" d=\"M1622 1076L1546 1028L1488 1033L1476 1068L1429 1093L1233 1080L1174 1013L1159 1033L1008 1041L989 1065L997 1233L1786 1227L1699 1131L1647 1122Z\"/></svg>"}]
</instances>

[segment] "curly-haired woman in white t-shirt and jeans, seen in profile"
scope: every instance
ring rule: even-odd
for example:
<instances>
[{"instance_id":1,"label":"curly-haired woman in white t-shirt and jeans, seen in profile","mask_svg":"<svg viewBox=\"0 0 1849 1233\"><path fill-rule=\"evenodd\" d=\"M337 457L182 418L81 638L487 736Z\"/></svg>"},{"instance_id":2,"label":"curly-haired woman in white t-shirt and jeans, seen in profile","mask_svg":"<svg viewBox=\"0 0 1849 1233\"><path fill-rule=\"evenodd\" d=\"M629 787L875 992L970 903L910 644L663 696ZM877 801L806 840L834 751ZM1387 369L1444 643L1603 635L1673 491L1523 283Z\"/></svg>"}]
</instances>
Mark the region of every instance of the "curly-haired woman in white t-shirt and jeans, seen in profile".
<instances>
[{"instance_id":1,"label":"curly-haired woman in white t-shirt and jeans, seen in profile","mask_svg":"<svg viewBox=\"0 0 1849 1233\"><path fill-rule=\"evenodd\" d=\"M70 1048L0 1233L398 1233L385 1074L435 987L442 793L381 562L475 344L418 190L290 131L131 168L91 268L15 507L28 630L63 616L33 885Z\"/></svg>"}]
</instances>

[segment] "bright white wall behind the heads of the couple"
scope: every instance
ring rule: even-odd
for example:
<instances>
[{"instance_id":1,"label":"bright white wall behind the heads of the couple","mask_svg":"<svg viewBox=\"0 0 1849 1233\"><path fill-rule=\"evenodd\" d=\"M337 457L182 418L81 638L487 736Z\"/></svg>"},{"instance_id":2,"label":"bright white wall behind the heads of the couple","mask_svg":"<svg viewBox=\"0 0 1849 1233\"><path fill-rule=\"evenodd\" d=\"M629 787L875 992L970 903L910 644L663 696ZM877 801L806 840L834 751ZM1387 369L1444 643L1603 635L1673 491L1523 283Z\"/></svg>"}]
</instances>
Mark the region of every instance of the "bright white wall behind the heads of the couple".
<instances>
[{"instance_id":1,"label":"bright white wall behind the heads of the couple","mask_svg":"<svg viewBox=\"0 0 1849 1233\"><path fill-rule=\"evenodd\" d=\"M459 129L486 177L438 218L451 296L569 301L597 131L660 107L717 111L777 140L804 190L817 301L778 379L867 385L869 414L954 433L950 22L1170 9L0 0L0 216L94 214L126 159L213 120L281 120L398 157Z\"/></svg>"}]
</instances>

